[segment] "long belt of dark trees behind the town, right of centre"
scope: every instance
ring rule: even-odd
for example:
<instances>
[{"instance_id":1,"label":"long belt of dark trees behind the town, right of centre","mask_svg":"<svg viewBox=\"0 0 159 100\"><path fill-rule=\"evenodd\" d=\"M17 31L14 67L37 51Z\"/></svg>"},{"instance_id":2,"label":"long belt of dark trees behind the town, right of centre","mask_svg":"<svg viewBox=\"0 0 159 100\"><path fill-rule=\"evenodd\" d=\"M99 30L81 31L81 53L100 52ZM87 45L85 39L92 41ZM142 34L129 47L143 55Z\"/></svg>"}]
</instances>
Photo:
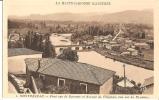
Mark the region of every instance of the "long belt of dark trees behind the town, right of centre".
<instances>
[{"instance_id":1,"label":"long belt of dark trees behind the town, right of centre","mask_svg":"<svg viewBox=\"0 0 159 100\"><path fill-rule=\"evenodd\" d=\"M122 34L125 38L131 39L147 39L147 36L153 37L153 27L143 24L104 24L104 25L86 25L83 30L75 32L71 40L72 41L80 41L80 40L92 40L93 36L106 36L112 35L115 36L119 29L122 29L124 34Z\"/></svg>"}]
</instances>

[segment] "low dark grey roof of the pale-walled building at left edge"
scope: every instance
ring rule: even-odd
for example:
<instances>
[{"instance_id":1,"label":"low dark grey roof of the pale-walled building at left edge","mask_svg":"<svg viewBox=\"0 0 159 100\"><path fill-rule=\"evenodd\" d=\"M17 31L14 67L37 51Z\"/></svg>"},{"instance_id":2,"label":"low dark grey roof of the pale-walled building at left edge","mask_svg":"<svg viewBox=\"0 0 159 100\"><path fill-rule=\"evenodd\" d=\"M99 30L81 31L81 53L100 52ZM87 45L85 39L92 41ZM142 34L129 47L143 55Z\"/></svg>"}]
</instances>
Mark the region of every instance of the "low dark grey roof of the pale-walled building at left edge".
<instances>
[{"instance_id":1,"label":"low dark grey roof of the pale-walled building at left edge","mask_svg":"<svg viewBox=\"0 0 159 100\"><path fill-rule=\"evenodd\" d=\"M42 52L27 49L27 48L10 48L10 49L8 49L8 57L19 56L19 55L32 55L32 54L42 54Z\"/></svg>"}]
</instances>

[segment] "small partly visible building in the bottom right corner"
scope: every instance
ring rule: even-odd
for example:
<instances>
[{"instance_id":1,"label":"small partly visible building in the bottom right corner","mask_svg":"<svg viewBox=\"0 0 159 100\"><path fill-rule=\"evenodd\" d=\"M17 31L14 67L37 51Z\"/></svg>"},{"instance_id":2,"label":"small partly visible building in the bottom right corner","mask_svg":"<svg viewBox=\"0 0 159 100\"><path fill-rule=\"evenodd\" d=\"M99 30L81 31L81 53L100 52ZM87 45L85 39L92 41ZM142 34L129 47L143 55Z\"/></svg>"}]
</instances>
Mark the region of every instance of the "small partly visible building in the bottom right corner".
<instances>
[{"instance_id":1,"label":"small partly visible building in the bottom right corner","mask_svg":"<svg viewBox=\"0 0 159 100\"><path fill-rule=\"evenodd\" d=\"M145 79L142 87L143 87L142 94L153 94L154 77L150 77L150 78Z\"/></svg>"}]
</instances>

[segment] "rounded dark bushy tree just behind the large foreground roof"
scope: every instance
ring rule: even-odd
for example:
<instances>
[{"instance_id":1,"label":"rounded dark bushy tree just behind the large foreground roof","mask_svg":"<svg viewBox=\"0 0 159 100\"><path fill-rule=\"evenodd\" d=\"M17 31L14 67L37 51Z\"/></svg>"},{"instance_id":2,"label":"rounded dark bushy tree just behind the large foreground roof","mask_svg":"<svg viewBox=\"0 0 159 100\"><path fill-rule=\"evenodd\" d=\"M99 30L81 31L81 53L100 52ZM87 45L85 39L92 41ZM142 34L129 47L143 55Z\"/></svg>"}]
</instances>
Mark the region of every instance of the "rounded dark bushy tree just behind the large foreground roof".
<instances>
[{"instance_id":1,"label":"rounded dark bushy tree just behind the large foreground roof","mask_svg":"<svg viewBox=\"0 0 159 100\"><path fill-rule=\"evenodd\" d=\"M63 50L63 53L58 56L59 59L70 60L70 61L78 61L77 51L71 50L71 48L67 48Z\"/></svg>"}]
</instances>

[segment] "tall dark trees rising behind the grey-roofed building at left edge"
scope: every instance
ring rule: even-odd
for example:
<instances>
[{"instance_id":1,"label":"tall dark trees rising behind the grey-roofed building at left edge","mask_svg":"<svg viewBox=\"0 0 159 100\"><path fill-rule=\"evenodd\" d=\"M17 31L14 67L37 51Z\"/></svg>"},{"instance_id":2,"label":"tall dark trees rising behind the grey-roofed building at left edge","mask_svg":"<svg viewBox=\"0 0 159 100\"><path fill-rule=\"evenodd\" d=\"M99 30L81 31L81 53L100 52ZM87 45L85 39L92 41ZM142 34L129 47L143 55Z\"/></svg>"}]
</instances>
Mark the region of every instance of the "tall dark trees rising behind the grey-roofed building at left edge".
<instances>
[{"instance_id":1,"label":"tall dark trees rising behind the grey-roofed building at left edge","mask_svg":"<svg viewBox=\"0 0 159 100\"><path fill-rule=\"evenodd\" d=\"M43 57L55 57L55 48L49 37L50 34L41 35L37 32L28 31L24 39L24 45L26 48L43 52Z\"/></svg>"}]
</instances>

